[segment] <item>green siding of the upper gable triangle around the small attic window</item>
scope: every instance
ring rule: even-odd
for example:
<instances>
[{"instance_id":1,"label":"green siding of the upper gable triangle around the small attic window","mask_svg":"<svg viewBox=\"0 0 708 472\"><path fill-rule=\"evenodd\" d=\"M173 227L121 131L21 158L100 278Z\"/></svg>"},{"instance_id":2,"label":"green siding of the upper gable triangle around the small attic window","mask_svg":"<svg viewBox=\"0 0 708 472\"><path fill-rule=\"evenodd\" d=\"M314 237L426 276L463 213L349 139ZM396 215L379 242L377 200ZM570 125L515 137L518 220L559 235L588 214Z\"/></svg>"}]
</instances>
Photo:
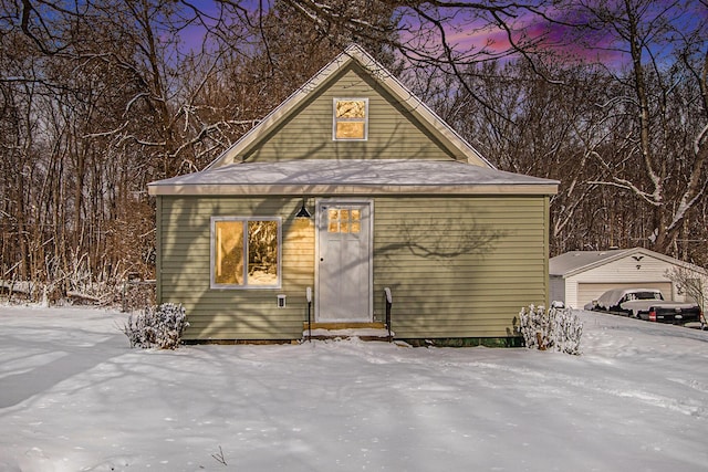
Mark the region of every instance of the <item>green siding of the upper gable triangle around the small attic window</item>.
<instances>
[{"instance_id":1,"label":"green siding of the upper gable triangle around the small attic window","mask_svg":"<svg viewBox=\"0 0 708 472\"><path fill-rule=\"evenodd\" d=\"M368 98L368 139L332 139L333 98ZM259 148L242 160L293 159L428 159L455 158L410 113L358 66L346 67L332 85L312 97L274 127ZM464 157L460 157L464 158Z\"/></svg>"}]
</instances>

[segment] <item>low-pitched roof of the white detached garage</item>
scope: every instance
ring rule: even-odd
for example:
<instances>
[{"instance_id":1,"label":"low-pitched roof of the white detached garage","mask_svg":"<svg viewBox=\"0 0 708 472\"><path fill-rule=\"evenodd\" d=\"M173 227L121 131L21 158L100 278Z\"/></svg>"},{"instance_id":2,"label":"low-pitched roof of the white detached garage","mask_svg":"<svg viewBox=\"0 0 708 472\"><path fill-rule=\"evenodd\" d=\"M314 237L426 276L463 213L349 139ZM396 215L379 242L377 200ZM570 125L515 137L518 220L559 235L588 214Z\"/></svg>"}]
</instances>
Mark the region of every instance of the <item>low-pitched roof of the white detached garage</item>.
<instances>
[{"instance_id":1,"label":"low-pitched roof of the white detached garage","mask_svg":"<svg viewBox=\"0 0 708 472\"><path fill-rule=\"evenodd\" d=\"M565 279L637 253L659 259L669 264L689 265L678 259L644 248L613 249L607 251L570 251L549 260L549 274L563 276Z\"/></svg>"}]
</instances>

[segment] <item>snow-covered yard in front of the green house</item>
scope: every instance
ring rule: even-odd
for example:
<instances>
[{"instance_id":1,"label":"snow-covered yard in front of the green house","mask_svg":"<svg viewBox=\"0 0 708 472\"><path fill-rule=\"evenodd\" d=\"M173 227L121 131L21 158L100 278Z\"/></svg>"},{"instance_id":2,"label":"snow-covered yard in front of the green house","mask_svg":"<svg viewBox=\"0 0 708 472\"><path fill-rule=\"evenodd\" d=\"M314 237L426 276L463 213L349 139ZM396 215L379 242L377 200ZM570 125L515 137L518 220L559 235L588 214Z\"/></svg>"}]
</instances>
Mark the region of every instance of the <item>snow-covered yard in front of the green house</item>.
<instances>
[{"instance_id":1,"label":"snow-covered yard in front of the green house","mask_svg":"<svg viewBox=\"0 0 708 472\"><path fill-rule=\"evenodd\" d=\"M708 332L581 316L579 357L160 352L129 349L122 314L0 306L0 470L708 470Z\"/></svg>"}]
</instances>

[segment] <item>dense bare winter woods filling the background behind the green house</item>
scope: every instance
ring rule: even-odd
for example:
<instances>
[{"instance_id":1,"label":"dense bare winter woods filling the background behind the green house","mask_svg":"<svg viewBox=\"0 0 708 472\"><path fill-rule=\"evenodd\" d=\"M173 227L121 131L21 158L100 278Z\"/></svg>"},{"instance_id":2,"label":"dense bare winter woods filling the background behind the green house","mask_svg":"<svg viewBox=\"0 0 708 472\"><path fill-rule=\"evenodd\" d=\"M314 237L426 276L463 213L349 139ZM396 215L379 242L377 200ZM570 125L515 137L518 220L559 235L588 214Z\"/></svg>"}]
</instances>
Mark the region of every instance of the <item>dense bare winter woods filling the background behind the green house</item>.
<instances>
[{"instance_id":1,"label":"dense bare winter woods filling the background behind the green house","mask_svg":"<svg viewBox=\"0 0 708 472\"><path fill-rule=\"evenodd\" d=\"M3 0L0 281L152 276L146 185L206 166L351 42L500 168L561 180L553 253L700 258L707 35L676 23L706 4L662 4ZM551 54L560 27L627 69Z\"/></svg>"}]
</instances>

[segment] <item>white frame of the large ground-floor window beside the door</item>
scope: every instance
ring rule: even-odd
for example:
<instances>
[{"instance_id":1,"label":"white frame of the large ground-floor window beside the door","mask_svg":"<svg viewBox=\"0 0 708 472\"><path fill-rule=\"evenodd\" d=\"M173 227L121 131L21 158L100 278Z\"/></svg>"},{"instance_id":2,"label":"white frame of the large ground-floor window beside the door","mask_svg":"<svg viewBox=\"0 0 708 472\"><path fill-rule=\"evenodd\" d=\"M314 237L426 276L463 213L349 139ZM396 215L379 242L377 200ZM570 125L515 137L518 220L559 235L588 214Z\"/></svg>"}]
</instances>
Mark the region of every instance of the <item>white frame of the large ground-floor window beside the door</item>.
<instances>
[{"instance_id":1,"label":"white frame of the large ground-floor window beside the door","mask_svg":"<svg viewBox=\"0 0 708 472\"><path fill-rule=\"evenodd\" d=\"M239 221L243 223L243 284L220 284L216 282L216 244L217 244L217 222ZM275 221L278 225L278 282L273 285L249 285L248 284L248 240L249 222L251 221ZM282 218L281 217L211 217L209 221L209 286L216 290L274 290L282 289Z\"/></svg>"}]
</instances>

